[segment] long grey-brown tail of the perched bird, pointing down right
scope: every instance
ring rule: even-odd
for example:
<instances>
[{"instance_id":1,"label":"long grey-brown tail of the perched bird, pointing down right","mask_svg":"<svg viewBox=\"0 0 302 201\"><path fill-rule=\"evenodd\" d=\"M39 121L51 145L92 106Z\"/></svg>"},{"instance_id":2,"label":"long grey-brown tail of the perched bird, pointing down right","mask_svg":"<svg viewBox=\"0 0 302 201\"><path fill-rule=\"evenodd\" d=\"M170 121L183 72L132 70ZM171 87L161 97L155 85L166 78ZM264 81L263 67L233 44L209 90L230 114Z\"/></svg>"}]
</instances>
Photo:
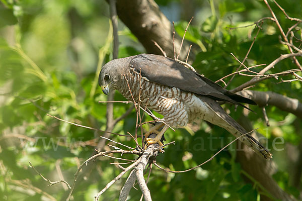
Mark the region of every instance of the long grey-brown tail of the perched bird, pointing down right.
<instances>
[{"instance_id":1,"label":"long grey-brown tail of the perched bird, pointing down right","mask_svg":"<svg viewBox=\"0 0 302 201\"><path fill-rule=\"evenodd\" d=\"M226 114L226 112L215 100L205 96L201 96L200 99L202 100L202 102L207 104L208 108L213 112L215 116L211 118L205 117L204 120L228 130L235 137L239 137L247 133L247 131L242 126L240 126L232 117ZM270 158L272 158L272 154L250 134L239 138L239 140L248 145L258 155L264 157L265 159L269 160Z\"/></svg>"}]
</instances>

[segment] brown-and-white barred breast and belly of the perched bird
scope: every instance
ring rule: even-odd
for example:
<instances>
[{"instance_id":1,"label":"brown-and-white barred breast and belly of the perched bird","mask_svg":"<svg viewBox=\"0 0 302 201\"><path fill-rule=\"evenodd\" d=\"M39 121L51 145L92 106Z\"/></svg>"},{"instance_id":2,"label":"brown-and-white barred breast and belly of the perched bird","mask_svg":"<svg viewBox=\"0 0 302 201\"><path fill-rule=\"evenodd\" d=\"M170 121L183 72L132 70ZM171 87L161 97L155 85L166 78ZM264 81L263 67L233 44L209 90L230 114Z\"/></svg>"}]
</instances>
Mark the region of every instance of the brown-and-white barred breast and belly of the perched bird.
<instances>
[{"instance_id":1,"label":"brown-and-white barred breast and belly of the perched bird","mask_svg":"<svg viewBox=\"0 0 302 201\"><path fill-rule=\"evenodd\" d=\"M121 83L116 84L113 88L117 89L128 100L132 101L133 96L136 103L138 103L140 96L141 105L163 115L169 126L186 126L196 118L204 116L202 108L205 105L194 93L150 82L146 78L140 77L139 73L131 68L120 80ZM141 88L140 92L139 87Z\"/></svg>"}]
</instances>

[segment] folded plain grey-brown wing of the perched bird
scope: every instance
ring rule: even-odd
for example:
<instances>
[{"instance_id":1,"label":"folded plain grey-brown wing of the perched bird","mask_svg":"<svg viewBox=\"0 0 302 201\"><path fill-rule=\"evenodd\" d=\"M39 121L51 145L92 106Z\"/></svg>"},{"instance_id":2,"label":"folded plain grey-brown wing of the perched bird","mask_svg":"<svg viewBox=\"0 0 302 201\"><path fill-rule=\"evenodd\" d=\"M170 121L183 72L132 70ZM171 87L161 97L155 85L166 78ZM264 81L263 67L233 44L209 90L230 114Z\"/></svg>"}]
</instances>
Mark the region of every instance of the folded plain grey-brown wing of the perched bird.
<instances>
[{"instance_id":1,"label":"folded plain grey-brown wing of the perched bird","mask_svg":"<svg viewBox=\"0 0 302 201\"><path fill-rule=\"evenodd\" d=\"M130 67L136 72L141 72L141 75L151 82L177 87L186 92L209 96L236 105L241 105L239 102L256 105L253 100L222 88L219 84L168 57L140 54L131 59Z\"/></svg>"}]
</instances>

